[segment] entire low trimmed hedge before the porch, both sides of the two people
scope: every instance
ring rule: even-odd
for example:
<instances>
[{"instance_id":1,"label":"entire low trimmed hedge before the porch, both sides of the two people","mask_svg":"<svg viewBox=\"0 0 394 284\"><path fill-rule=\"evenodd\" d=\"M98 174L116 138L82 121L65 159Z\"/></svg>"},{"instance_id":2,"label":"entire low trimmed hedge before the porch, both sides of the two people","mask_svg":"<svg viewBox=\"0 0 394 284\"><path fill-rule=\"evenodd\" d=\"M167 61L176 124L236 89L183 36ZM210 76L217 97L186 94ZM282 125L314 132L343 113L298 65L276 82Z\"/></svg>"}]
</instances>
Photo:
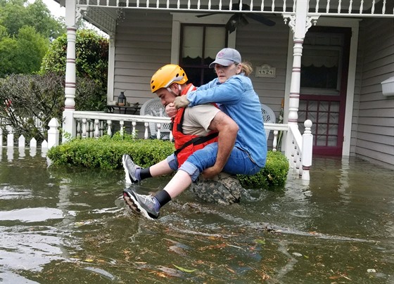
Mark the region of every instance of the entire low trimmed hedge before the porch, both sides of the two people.
<instances>
[{"instance_id":1,"label":"entire low trimmed hedge before the porch, both sides of the two people","mask_svg":"<svg viewBox=\"0 0 394 284\"><path fill-rule=\"evenodd\" d=\"M141 167L149 167L174 152L174 143L157 139L134 139L116 133L112 138L75 138L53 147L48 157L53 166L77 166L101 169L122 168L122 155L128 153ZM265 168L253 176L238 175L242 186L248 188L275 188L284 186L288 173L288 160L279 152L269 151Z\"/></svg>"}]
</instances>

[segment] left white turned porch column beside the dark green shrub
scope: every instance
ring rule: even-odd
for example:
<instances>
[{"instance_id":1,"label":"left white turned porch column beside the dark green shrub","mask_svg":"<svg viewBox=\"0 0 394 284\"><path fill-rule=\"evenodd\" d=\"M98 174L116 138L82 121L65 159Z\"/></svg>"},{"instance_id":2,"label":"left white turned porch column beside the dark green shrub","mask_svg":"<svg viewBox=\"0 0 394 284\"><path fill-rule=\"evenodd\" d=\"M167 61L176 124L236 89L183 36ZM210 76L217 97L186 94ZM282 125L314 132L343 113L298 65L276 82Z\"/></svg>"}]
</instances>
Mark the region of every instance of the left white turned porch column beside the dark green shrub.
<instances>
[{"instance_id":1,"label":"left white turned porch column beside the dark green shrub","mask_svg":"<svg viewBox=\"0 0 394 284\"><path fill-rule=\"evenodd\" d=\"M76 23L76 0L65 1L65 25L67 26L67 63L65 65L65 108L63 111L63 136L62 142L66 142L65 134L75 135L75 41L77 38Z\"/></svg>"}]
</instances>

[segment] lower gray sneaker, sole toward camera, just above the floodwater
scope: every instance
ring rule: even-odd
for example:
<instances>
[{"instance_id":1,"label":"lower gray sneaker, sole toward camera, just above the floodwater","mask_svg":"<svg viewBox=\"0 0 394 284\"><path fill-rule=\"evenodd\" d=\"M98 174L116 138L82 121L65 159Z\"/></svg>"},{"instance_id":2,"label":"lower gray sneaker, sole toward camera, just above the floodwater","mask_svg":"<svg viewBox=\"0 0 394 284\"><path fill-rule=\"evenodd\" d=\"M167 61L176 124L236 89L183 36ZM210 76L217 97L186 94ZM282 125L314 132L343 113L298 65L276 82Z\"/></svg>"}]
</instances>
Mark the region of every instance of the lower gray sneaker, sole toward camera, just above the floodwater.
<instances>
[{"instance_id":1,"label":"lower gray sneaker, sole toward camera, just above the floodwater","mask_svg":"<svg viewBox=\"0 0 394 284\"><path fill-rule=\"evenodd\" d=\"M142 195L135 193L132 189L123 191L123 199L131 209L142 213L148 219L158 219L160 212L156 211L156 202L152 195Z\"/></svg>"}]
</instances>

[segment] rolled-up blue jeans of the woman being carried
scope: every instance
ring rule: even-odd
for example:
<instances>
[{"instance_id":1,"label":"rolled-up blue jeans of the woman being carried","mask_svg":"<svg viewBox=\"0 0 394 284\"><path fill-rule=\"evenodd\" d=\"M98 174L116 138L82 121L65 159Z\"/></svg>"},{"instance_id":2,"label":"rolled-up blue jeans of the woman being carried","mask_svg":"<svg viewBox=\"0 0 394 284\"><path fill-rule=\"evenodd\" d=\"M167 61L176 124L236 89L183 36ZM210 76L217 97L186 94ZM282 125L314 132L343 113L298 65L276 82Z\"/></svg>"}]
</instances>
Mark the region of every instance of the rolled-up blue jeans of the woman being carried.
<instances>
[{"instance_id":1,"label":"rolled-up blue jeans of the woman being carried","mask_svg":"<svg viewBox=\"0 0 394 284\"><path fill-rule=\"evenodd\" d=\"M186 162L179 169L189 174L192 181L196 181L204 169L212 167L216 162L217 143L211 143L201 150L197 150L190 155ZM171 156L167 157L167 161ZM175 157L176 159L176 157ZM171 162L171 161L170 161ZM169 162L169 164L170 164ZM172 161L174 162L174 161ZM174 169L170 164L171 169ZM224 165L223 172L228 174L257 174L262 167L250 160L248 153L234 147L231 151L229 160Z\"/></svg>"}]
</instances>

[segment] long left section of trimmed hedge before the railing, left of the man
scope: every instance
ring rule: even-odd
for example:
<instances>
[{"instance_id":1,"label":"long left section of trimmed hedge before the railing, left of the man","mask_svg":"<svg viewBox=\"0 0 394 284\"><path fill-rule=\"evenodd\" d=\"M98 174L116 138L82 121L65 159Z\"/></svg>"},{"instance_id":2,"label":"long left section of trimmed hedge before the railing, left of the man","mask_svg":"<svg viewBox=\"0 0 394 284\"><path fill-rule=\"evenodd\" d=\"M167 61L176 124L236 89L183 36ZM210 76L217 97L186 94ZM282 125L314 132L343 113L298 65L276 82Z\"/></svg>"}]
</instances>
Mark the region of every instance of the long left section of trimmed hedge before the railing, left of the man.
<instances>
[{"instance_id":1,"label":"long left section of trimmed hedge before the railing, left of the man","mask_svg":"<svg viewBox=\"0 0 394 284\"><path fill-rule=\"evenodd\" d=\"M115 134L113 138L75 138L51 148L47 155L53 166L117 169L122 167L124 153L132 155L141 167L148 167L173 152L174 144L170 141L134 139L127 134L122 138Z\"/></svg>"}]
</instances>

